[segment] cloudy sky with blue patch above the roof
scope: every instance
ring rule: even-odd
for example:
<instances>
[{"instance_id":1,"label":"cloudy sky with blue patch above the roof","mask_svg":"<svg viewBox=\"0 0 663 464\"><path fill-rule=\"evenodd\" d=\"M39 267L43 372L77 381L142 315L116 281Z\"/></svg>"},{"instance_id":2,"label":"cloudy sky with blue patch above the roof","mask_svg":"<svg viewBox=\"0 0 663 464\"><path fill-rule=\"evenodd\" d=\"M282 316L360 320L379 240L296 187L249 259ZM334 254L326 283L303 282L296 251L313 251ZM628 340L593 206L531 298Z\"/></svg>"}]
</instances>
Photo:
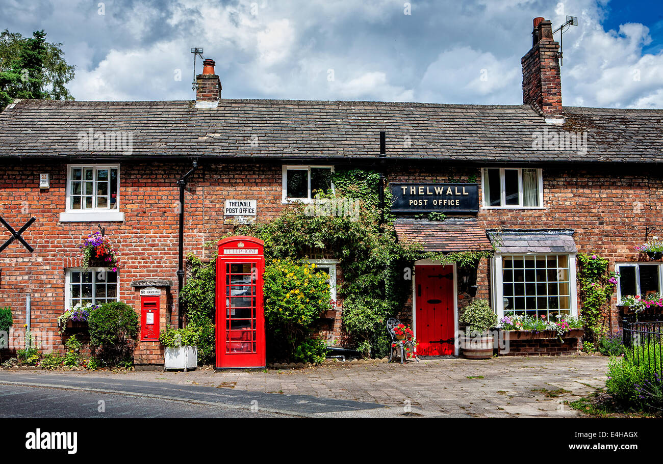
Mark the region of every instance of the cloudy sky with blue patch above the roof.
<instances>
[{"instance_id":1,"label":"cloudy sky with blue patch above the roof","mask_svg":"<svg viewBox=\"0 0 663 464\"><path fill-rule=\"evenodd\" d=\"M225 98L519 105L532 19L566 15L564 105L663 107L658 1L0 0L0 28L62 42L78 100L193 99L198 46Z\"/></svg>"}]
</instances>

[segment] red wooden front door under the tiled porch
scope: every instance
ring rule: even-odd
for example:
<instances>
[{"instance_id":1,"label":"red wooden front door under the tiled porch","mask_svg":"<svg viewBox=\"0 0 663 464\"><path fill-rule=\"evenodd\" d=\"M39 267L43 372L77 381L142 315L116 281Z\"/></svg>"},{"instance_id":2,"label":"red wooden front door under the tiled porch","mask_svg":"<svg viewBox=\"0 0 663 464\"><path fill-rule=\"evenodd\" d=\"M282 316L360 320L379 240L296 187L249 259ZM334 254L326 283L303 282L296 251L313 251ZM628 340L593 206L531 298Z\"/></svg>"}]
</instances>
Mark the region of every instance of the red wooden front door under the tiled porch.
<instances>
[{"instance_id":1,"label":"red wooden front door under the tiled porch","mask_svg":"<svg viewBox=\"0 0 663 464\"><path fill-rule=\"evenodd\" d=\"M453 355L453 265L417 266L414 285L417 354Z\"/></svg>"}]
</instances>

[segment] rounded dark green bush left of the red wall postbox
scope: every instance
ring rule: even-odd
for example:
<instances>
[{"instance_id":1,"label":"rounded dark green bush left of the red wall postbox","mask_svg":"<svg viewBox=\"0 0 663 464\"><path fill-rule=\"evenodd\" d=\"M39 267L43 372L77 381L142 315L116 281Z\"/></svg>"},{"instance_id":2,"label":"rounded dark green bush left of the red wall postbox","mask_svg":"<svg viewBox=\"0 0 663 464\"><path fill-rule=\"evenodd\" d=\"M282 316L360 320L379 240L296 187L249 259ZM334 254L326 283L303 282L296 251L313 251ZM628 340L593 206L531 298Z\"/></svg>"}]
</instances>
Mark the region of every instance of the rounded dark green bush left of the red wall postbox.
<instances>
[{"instance_id":1,"label":"rounded dark green bush left of the red wall postbox","mask_svg":"<svg viewBox=\"0 0 663 464\"><path fill-rule=\"evenodd\" d=\"M90 312L90 349L93 356L107 365L133 360L138 335L138 314L121 301L107 302Z\"/></svg>"}]
</instances>

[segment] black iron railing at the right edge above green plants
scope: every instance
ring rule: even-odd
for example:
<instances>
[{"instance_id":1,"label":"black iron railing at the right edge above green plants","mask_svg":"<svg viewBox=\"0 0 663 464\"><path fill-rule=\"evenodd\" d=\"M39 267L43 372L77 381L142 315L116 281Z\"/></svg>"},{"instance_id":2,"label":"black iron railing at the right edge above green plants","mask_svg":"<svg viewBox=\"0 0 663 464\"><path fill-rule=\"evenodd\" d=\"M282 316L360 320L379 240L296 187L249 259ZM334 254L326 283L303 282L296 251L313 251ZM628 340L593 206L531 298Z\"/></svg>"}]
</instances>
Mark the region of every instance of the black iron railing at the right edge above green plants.
<instances>
[{"instance_id":1,"label":"black iron railing at the right edge above green plants","mask_svg":"<svg viewBox=\"0 0 663 464\"><path fill-rule=\"evenodd\" d=\"M663 379L663 316L629 314L622 322L625 357Z\"/></svg>"}]
</instances>

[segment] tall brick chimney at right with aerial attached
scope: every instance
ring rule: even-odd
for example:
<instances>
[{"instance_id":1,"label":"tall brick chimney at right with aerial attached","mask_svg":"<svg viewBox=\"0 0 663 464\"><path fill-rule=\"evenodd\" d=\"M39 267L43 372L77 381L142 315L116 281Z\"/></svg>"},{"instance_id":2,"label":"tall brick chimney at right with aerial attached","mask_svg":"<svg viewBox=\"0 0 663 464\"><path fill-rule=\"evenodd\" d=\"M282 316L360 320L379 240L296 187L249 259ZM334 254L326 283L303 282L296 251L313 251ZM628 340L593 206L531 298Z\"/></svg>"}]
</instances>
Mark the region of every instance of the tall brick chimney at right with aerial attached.
<instances>
[{"instance_id":1,"label":"tall brick chimney at right with aerial attached","mask_svg":"<svg viewBox=\"0 0 663 464\"><path fill-rule=\"evenodd\" d=\"M560 44L552 38L552 24L534 18L532 49L522 57L522 103L532 105L548 122L562 122Z\"/></svg>"}]
</instances>

